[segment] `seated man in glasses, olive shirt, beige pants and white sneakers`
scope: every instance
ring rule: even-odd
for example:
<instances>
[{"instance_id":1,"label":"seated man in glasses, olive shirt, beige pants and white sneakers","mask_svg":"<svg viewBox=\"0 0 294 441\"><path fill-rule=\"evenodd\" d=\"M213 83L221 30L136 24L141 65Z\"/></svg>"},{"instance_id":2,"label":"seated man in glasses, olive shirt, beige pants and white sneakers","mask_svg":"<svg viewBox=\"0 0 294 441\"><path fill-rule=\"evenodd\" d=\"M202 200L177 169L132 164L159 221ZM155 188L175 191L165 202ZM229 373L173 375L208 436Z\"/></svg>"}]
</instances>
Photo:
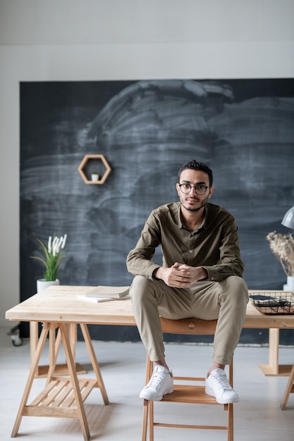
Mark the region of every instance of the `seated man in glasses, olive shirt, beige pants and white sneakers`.
<instances>
[{"instance_id":1,"label":"seated man in glasses, olive shirt, beige pants and white sneakers","mask_svg":"<svg viewBox=\"0 0 294 441\"><path fill-rule=\"evenodd\" d=\"M212 170L204 163L183 164L176 184L180 202L152 211L135 249L128 254L128 271L135 275L130 287L135 321L153 362L152 378L141 398L159 401L173 392L159 319L163 316L218 318L205 390L220 404L239 401L224 369L240 338L248 289L242 278L235 219L226 209L208 202L214 192L212 180ZM162 266L152 261L159 245Z\"/></svg>"}]
</instances>

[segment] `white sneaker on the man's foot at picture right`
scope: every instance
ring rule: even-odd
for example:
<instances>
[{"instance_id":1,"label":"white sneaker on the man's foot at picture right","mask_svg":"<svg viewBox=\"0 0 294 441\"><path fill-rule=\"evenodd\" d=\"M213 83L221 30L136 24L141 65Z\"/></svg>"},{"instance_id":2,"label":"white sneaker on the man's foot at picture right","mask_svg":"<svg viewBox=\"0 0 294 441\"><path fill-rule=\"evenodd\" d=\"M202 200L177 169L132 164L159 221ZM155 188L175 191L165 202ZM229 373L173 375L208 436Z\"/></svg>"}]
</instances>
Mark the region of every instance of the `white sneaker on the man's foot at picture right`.
<instances>
[{"instance_id":1,"label":"white sneaker on the man's foot at picture right","mask_svg":"<svg viewBox=\"0 0 294 441\"><path fill-rule=\"evenodd\" d=\"M219 404L237 403L239 401L235 390L228 383L225 371L221 368L214 369L205 380L205 393L215 397Z\"/></svg>"}]
</instances>

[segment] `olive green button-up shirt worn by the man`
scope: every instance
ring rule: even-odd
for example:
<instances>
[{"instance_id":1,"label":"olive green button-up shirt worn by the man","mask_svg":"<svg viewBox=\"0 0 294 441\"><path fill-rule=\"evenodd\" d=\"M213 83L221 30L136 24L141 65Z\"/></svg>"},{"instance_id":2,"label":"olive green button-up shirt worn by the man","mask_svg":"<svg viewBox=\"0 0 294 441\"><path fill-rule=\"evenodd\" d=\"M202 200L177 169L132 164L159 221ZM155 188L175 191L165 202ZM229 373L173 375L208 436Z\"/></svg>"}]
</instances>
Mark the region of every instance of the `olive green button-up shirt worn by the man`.
<instances>
[{"instance_id":1,"label":"olive green button-up shirt worn by the man","mask_svg":"<svg viewBox=\"0 0 294 441\"><path fill-rule=\"evenodd\" d=\"M238 228L231 213L221 206L206 204L202 225L195 231L183 225L180 202L159 206L150 214L135 249L128 254L128 271L152 279L154 270L160 266L152 261L159 245L162 266L167 268L175 262L202 266L207 271L207 280L216 282L228 275L242 277L244 263Z\"/></svg>"}]
</instances>

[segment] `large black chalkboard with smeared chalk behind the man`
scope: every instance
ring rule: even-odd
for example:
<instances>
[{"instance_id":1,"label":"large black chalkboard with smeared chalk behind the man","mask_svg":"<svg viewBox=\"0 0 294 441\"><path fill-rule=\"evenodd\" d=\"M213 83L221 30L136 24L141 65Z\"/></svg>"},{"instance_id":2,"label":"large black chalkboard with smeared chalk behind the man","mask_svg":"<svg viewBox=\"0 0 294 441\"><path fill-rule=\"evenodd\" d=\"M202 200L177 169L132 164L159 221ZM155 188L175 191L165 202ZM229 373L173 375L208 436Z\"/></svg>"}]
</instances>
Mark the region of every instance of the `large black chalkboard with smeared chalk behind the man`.
<instances>
[{"instance_id":1,"label":"large black chalkboard with smeared chalk behind the man","mask_svg":"<svg viewBox=\"0 0 294 441\"><path fill-rule=\"evenodd\" d=\"M54 233L68 235L61 284L129 285L128 251L149 212L178 199L178 168L190 159L214 170L212 202L236 218L248 286L283 289L266 236L289 232L281 219L294 204L293 96L293 79L21 82L20 300L42 277L30 259L36 239ZM104 154L104 185L80 177L85 154ZM90 332L139 340L135 327ZM293 335L282 331L281 342ZM264 330L241 337L266 341Z\"/></svg>"}]
</instances>

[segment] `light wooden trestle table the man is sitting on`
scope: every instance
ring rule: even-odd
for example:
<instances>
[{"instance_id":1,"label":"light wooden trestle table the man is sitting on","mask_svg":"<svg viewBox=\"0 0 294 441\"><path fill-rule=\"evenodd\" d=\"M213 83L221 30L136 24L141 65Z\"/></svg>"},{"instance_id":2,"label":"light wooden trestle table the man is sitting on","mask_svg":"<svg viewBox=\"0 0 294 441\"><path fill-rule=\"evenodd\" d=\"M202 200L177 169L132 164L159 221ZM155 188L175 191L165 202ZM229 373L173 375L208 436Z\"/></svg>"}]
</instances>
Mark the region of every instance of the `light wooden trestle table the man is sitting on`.
<instances>
[{"instance_id":1,"label":"light wooden trestle table the man is sitting on","mask_svg":"<svg viewBox=\"0 0 294 441\"><path fill-rule=\"evenodd\" d=\"M85 415L83 402L93 387L99 387L104 404L108 397L100 373L99 364L94 354L87 324L96 325L135 325L133 308L130 299L94 304L83 301L77 294L85 294L89 287L51 286L35 294L12 309L6 311L6 318L11 321L30 321L44 323L42 333L33 356L29 377L25 386L23 399L20 402L16 422L11 437L15 437L23 416L63 416L79 418L85 441L90 439L90 431ZM250 291L254 293L257 291ZM258 291L260 292L260 291ZM269 292L269 291L267 291ZM276 292L276 291L275 291ZM216 321L210 321L212 328ZM74 344L70 335L73 327L79 324L85 340L93 370L94 380L78 379L75 369ZM207 321L198 320L197 325L207 327ZM56 366L56 329L59 328L68 364L69 378L58 378L54 375ZM251 303L247 305L244 328L250 329L292 329L294 315L265 316L259 313ZM39 359L49 334L49 369L45 389L27 405L32 382L39 365ZM69 392L72 391L71 397Z\"/></svg>"}]
</instances>

